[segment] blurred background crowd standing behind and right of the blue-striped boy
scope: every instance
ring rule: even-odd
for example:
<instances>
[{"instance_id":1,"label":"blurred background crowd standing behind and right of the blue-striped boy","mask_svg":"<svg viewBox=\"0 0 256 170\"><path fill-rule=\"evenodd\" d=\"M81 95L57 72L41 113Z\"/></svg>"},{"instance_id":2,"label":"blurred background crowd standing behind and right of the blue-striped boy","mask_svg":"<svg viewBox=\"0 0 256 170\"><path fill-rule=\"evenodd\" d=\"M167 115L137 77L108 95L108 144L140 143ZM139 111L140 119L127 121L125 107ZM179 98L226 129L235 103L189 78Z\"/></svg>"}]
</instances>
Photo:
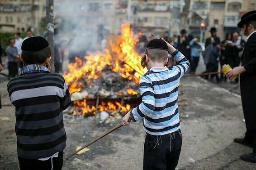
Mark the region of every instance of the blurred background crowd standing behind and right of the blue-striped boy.
<instances>
[{"instance_id":1,"label":"blurred background crowd standing behind and right of the blue-striped boy","mask_svg":"<svg viewBox=\"0 0 256 170\"><path fill-rule=\"evenodd\" d=\"M205 50L203 51L203 43L199 43L198 38L194 38L193 35L188 34L185 29L180 31L180 35L170 36L166 31L161 35L161 38L177 48L190 62L190 73L194 74L199 64L199 58L203 55L204 64L206 66L205 72L218 72L219 67L229 64L234 68L240 65L242 51L245 46L245 40L242 39L240 33L235 31L227 33L225 40L221 41L217 36L217 29L212 27L210 29L211 36L205 40ZM154 36L145 36L141 30L138 31L137 52L142 54L145 49L148 40L154 38ZM175 61L172 61L175 65ZM218 75L204 76L205 79L213 79L216 77L217 83L220 81L226 81L227 78L223 76L223 73ZM238 83L238 78L232 83Z\"/></svg>"}]
</instances>

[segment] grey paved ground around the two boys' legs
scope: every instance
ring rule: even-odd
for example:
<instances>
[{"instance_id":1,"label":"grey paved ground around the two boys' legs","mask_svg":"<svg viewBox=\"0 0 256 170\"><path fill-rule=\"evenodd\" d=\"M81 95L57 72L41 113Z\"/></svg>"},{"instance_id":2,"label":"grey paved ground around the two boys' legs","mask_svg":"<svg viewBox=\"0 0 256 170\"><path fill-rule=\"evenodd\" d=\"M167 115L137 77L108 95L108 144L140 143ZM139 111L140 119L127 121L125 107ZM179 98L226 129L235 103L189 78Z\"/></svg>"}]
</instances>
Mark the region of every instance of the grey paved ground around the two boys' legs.
<instances>
[{"instance_id":1,"label":"grey paved ground around the two boys' legs","mask_svg":"<svg viewBox=\"0 0 256 170\"><path fill-rule=\"evenodd\" d=\"M255 170L256 164L239 160L252 149L233 143L243 136L241 98L219 85L200 78L183 78L180 90L188 106L180 107L182 151L179 170ZM3 108L0 110L0 169L18 170L15 114L6 91L0 83ZM228 88L227 88L228 89ZM66 158L76 147L82 146L99 134L120 123L98 123L93 128L93 117L64 114L67 133ZM109 134L90 147L90 150L64 160L63 170L142 170L145 132L142 121Z\"/></svg>"}]
</instances>

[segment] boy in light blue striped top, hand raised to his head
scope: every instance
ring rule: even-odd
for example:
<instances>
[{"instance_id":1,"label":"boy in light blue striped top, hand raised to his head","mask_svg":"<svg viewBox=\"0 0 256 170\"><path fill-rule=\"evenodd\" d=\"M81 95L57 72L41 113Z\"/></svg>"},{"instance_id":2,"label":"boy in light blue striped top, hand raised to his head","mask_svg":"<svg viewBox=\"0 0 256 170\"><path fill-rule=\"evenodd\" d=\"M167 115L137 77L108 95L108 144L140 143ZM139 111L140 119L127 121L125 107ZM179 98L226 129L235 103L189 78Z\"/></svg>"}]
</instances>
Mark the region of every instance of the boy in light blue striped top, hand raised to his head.
<instances>
[{"instance_id":1,"label":"boy in light blue striped top, hand raised to his head","mask_svg":"<svg viewBox=\"0 0 256 170\"><path fill-rule=\"evenodd\" d=\"M168 51L177 61L177 66L165 67ZM130 118L138 121L144 117L143 170L175 170L182 143L178 88L180 77L188 70L190 63L183 54L161 39L148 43L145 63L148 72L141 77L139 84L142 103L123 117L123 125L128 125Z\"/></svg>"}]
</instances>

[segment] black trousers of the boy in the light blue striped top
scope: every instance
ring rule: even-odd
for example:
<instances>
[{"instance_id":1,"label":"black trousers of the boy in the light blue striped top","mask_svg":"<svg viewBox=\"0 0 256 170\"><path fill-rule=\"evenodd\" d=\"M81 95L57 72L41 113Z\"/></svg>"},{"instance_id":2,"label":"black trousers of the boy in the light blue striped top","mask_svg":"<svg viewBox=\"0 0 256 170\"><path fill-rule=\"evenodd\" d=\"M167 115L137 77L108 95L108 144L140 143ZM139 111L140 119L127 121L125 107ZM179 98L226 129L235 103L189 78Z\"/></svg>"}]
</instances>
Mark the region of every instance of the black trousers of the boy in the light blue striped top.
<instances>
[{"instance_id":1,"label":"black trousers of the boy in the light blue striped top","mask_svg":"<svg viewBox=\"0 0 256 170\"><path fill-rule=\"evenodd\" d=\"M143 170L175 170L182 145L181 131L155 136L146 135Z\"/></svg>"}]
</instances>

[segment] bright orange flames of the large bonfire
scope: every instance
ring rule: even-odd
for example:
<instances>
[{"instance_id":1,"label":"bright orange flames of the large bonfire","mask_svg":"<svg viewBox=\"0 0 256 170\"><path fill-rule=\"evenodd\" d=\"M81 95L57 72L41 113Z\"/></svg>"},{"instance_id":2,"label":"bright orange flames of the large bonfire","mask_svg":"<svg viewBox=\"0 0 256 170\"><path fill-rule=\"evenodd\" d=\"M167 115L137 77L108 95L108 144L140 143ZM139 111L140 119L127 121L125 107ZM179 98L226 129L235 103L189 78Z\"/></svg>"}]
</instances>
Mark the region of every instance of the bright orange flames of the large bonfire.
<instances>
[{"instance_id":1,"label":"bright orange flames of the large bonfire","mask_svg":"<svg viewBox=\"0 0 256 170\"><path fill-rule=\"evenodd\" d=\"M140 55L135 51L135 45L138 39L134 38L131 27L128 23L121 25L122 34L118 36L116 42L109 42L109 49L104 49L104 54L96 52L85 56L84 59L76 58L74 63L70 63L69 72L63 76L69 86L70 93L80 92L83 87L82 77L86 77L86 81L93 81L100 77L99 73L109 67L112 72L117 72L120 76L138 83L140 77L144 74L144 69L140 63ZM137 92L131 88L127 88L127 93L137 95ZM75 101L73 105L82 107L82 113L113 110L125 112L130 109L130 105L123 106L120 103L101 103L96 109L89 107L86 100Z\"/></svg>"}]
</instances>

